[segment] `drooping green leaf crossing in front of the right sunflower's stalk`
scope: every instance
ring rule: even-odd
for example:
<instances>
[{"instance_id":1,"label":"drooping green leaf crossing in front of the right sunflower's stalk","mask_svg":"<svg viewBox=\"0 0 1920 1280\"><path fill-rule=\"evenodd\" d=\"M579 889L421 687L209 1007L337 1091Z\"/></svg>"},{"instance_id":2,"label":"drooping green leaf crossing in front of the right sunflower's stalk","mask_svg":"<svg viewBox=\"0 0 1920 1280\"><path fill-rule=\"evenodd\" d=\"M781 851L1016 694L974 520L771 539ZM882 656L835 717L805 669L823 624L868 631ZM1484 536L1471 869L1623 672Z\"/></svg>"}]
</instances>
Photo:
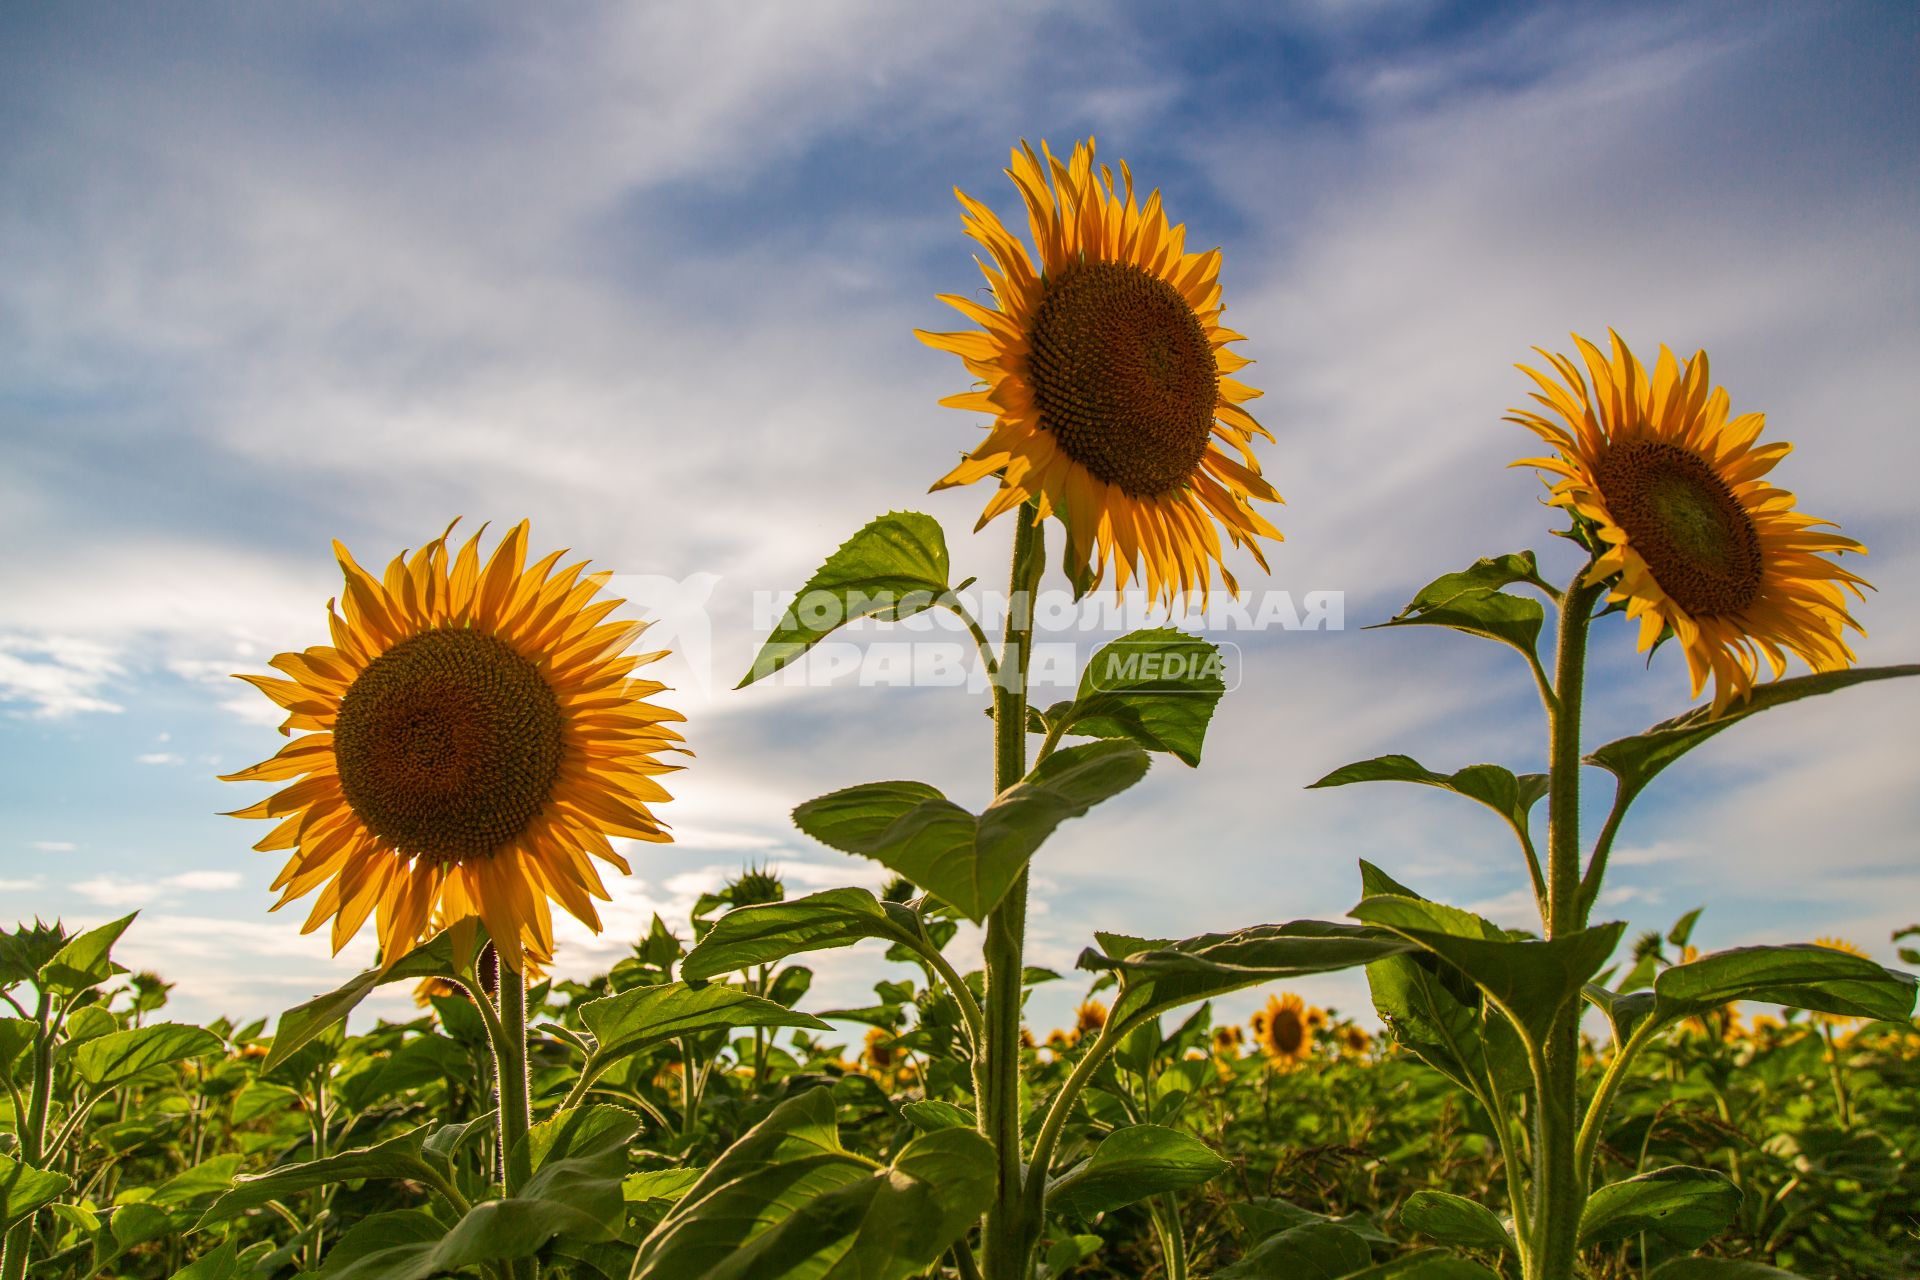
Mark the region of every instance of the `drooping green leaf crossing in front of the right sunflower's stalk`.
<instances>
[{"instance_id":1,"label":"drooping green leaf crossing in front of the right sunflower's stalk","mask_svg":"<svg viewBox=\"0 0 1920 1280\"><path fill-rule=\"evenodd\" d=\"M1509 938L1471 912L1402 894L1361 898L1350 913L1392 929L1465 973L1536 1044L1555 1013L1607 963L1626 929L1615 921L1546 942Z\"/></svg>"}]
</instances>

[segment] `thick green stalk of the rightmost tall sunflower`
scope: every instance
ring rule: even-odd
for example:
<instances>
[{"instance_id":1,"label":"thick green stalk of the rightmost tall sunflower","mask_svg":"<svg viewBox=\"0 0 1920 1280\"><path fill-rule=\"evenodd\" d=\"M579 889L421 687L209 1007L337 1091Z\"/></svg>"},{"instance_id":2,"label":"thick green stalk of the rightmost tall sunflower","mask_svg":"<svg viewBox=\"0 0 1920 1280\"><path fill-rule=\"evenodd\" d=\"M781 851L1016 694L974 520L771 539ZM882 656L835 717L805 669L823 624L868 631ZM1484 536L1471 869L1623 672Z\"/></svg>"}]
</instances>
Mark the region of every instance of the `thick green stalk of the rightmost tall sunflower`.
<instances>
[{"instance_id":1,"label":"thick green stalk of the rightmost tall sunflower","mask_svg":"<svg viewBox=\"0 0 1920 1280\"><path fill-rule=\"evenodd\" d=\"M1586 568L1561 597L1559 656L1553 704L1548 712L1548 912L1546 936L1559 938L1586 925L1580 900L1580 700L1586 685L1586 633L1601 587ZM1597 896L1597 887L1596 887ZM1553 1019L1540 1046L1534 1109L1534 1230L1528 1280L1572 1280L1586 1207L1586 1178L1578 1165L1580 1103L1578 1000Z\"/></svg>"}]
</instances>

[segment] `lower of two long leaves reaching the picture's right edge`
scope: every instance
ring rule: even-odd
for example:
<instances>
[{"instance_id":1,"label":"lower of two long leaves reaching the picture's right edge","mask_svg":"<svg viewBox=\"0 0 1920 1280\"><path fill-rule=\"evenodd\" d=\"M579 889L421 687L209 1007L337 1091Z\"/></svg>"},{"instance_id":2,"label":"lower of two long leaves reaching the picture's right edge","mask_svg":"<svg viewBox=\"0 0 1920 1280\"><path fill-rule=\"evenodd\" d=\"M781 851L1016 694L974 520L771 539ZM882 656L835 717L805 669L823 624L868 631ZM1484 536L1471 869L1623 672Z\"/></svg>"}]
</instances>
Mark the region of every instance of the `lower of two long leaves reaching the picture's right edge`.
<instances>
[{"instance_id":1,"label":"lower of two long leaves reaching the picture's right edge","mask_svg":"<svg viewBox=\"0 0 1920 1280\"><path fill-rule=\"evenodd\" d=\"M1661 969L1653 979L1663 1019L1728 1000L1759 1000L1816 1013L1905 1023L1914 1011L1914 977L1830 946L1736 946Z\"/></svg>"}]
</instances>

